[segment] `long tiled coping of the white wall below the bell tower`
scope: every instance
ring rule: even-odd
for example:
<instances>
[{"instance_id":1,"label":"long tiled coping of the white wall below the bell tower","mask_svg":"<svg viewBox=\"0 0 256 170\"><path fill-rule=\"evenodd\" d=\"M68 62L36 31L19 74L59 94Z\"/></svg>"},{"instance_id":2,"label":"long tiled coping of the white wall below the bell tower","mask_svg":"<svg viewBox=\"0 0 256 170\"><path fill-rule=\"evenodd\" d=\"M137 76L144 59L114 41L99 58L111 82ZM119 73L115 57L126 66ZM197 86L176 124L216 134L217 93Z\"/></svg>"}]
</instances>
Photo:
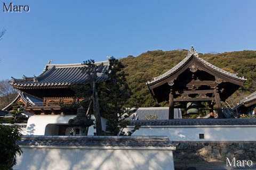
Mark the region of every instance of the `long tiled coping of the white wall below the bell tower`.
<instances>
[{"instance_id":1,"label":"long tiled coping of the white wall below the bell tower","mask_svg":"<svg viewBox=\"0 0 256 170\"><path fill-rule=\"evenodd\" d=\"M256 125L256 118L179 119L165 121L131 121L131 126L195 126L195 125Z\"/></svg>"}]
</instances>

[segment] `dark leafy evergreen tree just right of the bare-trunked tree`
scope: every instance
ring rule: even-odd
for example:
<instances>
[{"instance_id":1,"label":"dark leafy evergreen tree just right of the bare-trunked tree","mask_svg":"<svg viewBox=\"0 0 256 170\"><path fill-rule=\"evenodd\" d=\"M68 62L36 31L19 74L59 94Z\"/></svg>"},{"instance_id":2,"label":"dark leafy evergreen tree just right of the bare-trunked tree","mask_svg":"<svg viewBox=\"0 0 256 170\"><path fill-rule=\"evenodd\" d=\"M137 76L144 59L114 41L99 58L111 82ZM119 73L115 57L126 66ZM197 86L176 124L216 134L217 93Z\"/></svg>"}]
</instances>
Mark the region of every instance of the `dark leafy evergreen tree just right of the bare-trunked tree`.
<instances>
[{"instance_id":1,"label":"dark leafy evergreen tree just right of the bare-trunked tree","mask_svg":"<svg viewBox=\"0 0 256 170\"><path fill-rule=\"evenodd\" d=\"M109 71L106 73L109 80L101 83L100 105L102 115L107 118L107 131L111 135L124 135L123 129L130 125L125 120L137 109L129 107L127 101L132 92L126 83L127 74L123 71L124 65L116 58L109 58ZM138 127L128 134L131 135Z\"/></svg>"}]
</instances>

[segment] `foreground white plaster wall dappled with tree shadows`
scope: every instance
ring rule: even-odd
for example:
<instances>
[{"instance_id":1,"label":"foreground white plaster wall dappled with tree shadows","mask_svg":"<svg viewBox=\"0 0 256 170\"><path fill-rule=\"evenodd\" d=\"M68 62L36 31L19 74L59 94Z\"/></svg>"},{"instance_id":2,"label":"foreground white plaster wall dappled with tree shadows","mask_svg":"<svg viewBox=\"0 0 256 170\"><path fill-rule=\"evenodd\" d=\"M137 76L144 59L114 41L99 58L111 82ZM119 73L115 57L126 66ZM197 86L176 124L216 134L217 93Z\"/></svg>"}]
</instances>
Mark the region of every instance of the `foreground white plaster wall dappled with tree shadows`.
<instances>
[{"instance_id":1,"label":"foreground white plaster wall dappled with tree shadows","mask_svg":"<svg viewBox=\"0 0 256 170\"><path fill-rule=\"evenodd\" d=\"M172 147L21 146L14 169L174 169Z\"/></svg>"}]
</instances>

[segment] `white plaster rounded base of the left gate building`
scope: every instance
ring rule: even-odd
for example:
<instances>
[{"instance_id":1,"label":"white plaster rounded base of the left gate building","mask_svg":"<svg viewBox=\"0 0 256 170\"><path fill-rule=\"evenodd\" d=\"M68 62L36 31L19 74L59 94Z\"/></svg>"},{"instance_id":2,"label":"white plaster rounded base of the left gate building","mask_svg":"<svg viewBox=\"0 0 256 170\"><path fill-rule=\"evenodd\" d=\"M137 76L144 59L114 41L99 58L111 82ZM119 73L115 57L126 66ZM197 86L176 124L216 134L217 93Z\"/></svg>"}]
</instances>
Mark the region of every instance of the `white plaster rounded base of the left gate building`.
<instances>
[{"instance_id":1,"label":"white plaster rounded base of the left gate building","mask_svg":"<svg viewBox=\"0 0 256 170\"><path fill-rule=\"evenodd\" d=\"M68 124L68 121L71 118L74 118L76 115L34 115L28 119L27 130L24 133L25 135L45 135L50 134L51 132L47 131L46 126L50 127L51 125L56 124ZM94 116L91 117L95 120ZM101 117L102 129L106 129L107 120ZM49 129L48 129L49 130ZM94 135L95 129L93 126L90 126L88 135Z\"/></svg>"}]
</instances>

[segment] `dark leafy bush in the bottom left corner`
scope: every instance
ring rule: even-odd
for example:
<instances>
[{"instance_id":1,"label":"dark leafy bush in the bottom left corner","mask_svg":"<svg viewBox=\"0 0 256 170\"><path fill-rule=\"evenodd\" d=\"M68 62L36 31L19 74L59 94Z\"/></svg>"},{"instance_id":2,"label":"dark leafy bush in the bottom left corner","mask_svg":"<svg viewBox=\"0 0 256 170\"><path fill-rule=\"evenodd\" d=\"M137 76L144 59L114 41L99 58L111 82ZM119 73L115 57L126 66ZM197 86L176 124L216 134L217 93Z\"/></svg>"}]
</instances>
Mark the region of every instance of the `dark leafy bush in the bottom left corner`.
<instances>
[{"instance_id":1,"label":"dark leafy bush in the bottom left corner","mask_svg":"<svg viewBox=\"0 0 256 170\"><path fill-rule=\"evenodd\" d=\"M20 128L0 124L0 137L0 169L9 170L16 164L16 155L20 156L22 153L16 144L21 138Z\"/></svg>"}]
</instances>

